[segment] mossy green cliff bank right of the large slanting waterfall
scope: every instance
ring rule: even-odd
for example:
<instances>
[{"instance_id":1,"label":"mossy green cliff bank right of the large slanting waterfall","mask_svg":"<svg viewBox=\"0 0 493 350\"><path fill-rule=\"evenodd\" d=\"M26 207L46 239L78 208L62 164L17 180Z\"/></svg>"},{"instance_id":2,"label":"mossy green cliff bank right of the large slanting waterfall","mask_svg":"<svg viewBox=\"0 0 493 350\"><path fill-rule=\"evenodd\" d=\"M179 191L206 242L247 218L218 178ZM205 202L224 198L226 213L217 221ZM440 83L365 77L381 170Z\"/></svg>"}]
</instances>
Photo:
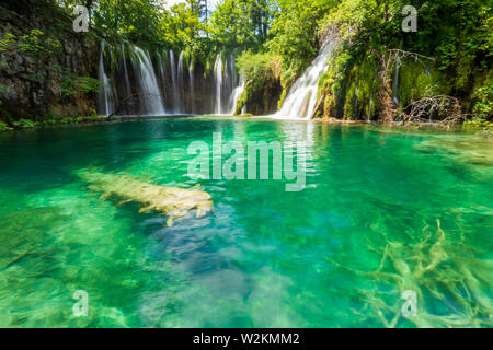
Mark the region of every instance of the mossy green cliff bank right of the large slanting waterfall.
<instances>
[{"instance_id":1,"label":"mossy green cliff bank right of the large slanting waterfall","mask_svg":"<svg viewBox=\"0 0 493 350\"><path fill-rule=\"evenodd\" d=\"M336 57L329 59L329 70L320 79L319 95L324 104L318 115L323 118L347 120L382 120L382 101L386 101L391 118L399 118L409 106L421 98L454 96L460 103L460 113L492 118L492 73L472 74L467 89L458 91L450 83L450 75L429 60L402 59L388 70L385 89L379 77L378 61L372 56L352 59L342 68ZM387 100L380 98L385 92ZM439 113L429 119L443 119Z\"/></svg>"}]
</instances>

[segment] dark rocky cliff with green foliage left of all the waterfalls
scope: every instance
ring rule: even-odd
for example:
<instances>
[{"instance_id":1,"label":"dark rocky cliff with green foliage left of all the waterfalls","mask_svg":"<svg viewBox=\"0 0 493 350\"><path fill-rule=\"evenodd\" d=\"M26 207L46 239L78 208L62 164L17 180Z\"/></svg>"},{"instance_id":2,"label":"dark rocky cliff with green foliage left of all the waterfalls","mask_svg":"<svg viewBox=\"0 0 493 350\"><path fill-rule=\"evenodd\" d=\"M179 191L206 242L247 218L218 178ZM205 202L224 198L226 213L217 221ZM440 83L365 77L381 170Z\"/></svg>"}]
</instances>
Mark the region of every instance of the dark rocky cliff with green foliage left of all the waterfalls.
<instances>
[{"instance_id":1,"label":"dark rocky cliff with green foliage left of all the waterfalls","mask_svg":"<svg viewBox=\"0 0 493 350\"><path fill-rule=\"evenodd\" d=\"M0 5L0 117L42 120L96 108L98 40L45 1Z\"/></svg>"}]
</instances>

